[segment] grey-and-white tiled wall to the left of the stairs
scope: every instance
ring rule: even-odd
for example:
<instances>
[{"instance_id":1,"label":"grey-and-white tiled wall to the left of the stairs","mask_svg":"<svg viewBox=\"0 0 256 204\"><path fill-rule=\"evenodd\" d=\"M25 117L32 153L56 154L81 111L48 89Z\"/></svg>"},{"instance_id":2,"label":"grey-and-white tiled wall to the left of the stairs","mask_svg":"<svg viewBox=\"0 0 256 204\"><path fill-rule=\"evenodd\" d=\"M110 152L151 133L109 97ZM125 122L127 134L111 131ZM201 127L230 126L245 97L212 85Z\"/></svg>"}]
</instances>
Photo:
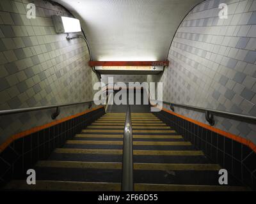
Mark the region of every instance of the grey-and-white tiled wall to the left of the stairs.
<instances>
[{"instance_id":1,"label":"grey-and-white tiled wall to the left of the stairs","mask_svg":"<svg viewBox=\"0 0 256 204\"><path fill-rule=\"evenodd\" d=\"M36 5L35 19L26 18L28 3ZM0 1L0 110L93 99L98 78L87 65L86 43L56 34L51 15L70 16L49 1ZM58 119L86 108L61 108ZM51 122L52 112L0 117L0 143L14 133Z\"/></svg>"}]
</instances>

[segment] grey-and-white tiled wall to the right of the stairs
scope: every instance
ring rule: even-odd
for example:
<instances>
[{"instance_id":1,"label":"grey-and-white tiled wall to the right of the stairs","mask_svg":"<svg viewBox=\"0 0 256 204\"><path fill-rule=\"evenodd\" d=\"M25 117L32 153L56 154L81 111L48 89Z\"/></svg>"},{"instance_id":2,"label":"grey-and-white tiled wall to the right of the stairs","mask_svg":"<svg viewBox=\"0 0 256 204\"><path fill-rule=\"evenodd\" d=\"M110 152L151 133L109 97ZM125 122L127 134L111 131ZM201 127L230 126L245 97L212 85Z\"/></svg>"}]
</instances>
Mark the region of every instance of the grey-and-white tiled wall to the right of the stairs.
<instances>
[{"instance_id":1,"label":"grey-and-white tiled wall to the right of the stairs","mask_svg":"<svg viewBox=\"0 0 256 204\"><path fill-rule=\"evenodd\" d=\"M220 19L218 5L228 5ZM256 1L209 0L180 25L168 55L170 66L148 81L164 84L164 101L256 116ZM201 122L202 113L175 108ZM216 117L216 127L256 143L256 126Z\"/></svg>"}]
</instances>

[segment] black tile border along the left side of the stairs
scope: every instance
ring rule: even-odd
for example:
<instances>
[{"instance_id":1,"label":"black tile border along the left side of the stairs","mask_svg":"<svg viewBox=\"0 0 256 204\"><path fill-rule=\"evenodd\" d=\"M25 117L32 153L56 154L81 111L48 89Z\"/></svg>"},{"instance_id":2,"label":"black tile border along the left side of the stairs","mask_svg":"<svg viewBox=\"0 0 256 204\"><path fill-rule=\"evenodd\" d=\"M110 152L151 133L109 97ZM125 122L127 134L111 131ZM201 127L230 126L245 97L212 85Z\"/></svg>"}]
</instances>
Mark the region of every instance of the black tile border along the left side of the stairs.
<instances>
[{"instance_id":1,"label":"black tile border along the left side of the stairs","mask_svg":"<svg viewBox=\"0 0 256 204\"><path fill-rule=\"evenodd\" d=\"M104 113L101 107L13 141L0 153L0 186L24 178L36 161L47 159L55 148L62 147Z\"/></svg>"}]
</instances>

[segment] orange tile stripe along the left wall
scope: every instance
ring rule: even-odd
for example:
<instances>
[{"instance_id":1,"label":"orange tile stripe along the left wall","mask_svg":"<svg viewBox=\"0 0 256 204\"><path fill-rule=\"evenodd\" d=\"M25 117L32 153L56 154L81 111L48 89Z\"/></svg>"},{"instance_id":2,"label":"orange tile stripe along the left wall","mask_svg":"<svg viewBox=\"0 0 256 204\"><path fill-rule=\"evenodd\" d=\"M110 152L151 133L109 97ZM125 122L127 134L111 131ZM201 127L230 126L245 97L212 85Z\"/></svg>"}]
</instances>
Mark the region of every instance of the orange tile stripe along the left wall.
<instances>
[{"instance_id":1,"label":"orange tile stripe along the left wall","mask_svg":"<svg viewBox=\"0 0 256 204\"><path fill-rule=\"evenodd\" d=\"M85 110L84 112L77 113L75 115L70 115L70 116L64 117L63 119L60 119L60 120L54 120L54 121L49 122L47 124L44 124L42 126L37 126L35 128L31 128L31 129L28 129L26 131L22 131L21 133L17 133L13 136L10 136L10 138L8 138L6 140L6 142L4 142L3 144L0 145L0 153L3 152L3 150L6 149L6 147L8 147L13 141L15 141L19 138L23 138L24 136L31 135L32 133L36 133L36 132L38 132L42 129L49 128L51 126L55 126L56 124L60 124L61 122L65 122L65 121L70 120L70 119L74 119L75 117L79 117L79 116L84 115L86 113L93 112L94 110L98 110L100 108L104 108L104 106L97 106L95 108Z\"/></svg>"}]
</instances>

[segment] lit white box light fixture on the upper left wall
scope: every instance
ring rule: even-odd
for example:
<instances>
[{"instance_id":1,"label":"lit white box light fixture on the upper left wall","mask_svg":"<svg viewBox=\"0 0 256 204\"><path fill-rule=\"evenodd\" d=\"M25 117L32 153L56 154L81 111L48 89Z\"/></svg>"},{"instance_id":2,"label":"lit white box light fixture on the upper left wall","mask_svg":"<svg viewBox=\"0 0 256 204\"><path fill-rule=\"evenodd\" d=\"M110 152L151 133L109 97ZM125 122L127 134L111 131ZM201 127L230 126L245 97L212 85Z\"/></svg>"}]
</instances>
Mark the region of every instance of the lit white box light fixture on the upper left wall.
<instances>
[{"instance_id":1,"label":"lit white box light fixture on the upper left wall","mask_svg":"<svg viewBox=\"0 0 256 204\"><path fill-rule=\"evenodd\" d=\"M52 16L56 33L75 33L81 31L80 21L77 18Z\"/></svg>"}]
</instances>

